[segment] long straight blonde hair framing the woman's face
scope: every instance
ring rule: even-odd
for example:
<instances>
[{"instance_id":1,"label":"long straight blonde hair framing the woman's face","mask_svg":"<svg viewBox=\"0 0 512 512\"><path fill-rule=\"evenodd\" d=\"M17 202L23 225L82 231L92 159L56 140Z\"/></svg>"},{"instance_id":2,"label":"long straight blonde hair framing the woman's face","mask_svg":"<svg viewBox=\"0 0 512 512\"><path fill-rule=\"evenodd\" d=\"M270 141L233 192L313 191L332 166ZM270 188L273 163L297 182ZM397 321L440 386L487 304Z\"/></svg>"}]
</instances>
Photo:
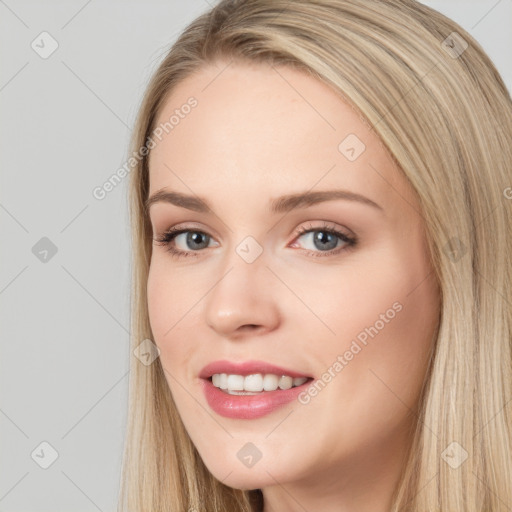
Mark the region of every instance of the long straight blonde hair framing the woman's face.
<instances>
[{"instance_id":1,"label":"long straight blonde hair framing the woman's face","mask_svg":"<svg viewBox=\"0 0 512 512\"><path fill-rule=\"evenodd\" d=\"M184 30L154 73L134 151L147 144L176 84L221 57L293 66L329 84L418 194L441 314L391 512L510 510L512 101L495 66L463 28L413 0L223 0ZM145 156L130 176L132 350L153 339L148 188ZM118 510L261 507L258 490L227 487L206 469L160 359L145 366L132 357L130 368ZM452 467L450 456L463 458L462 450L467 459Z\"/></svg>"}]
</instances>

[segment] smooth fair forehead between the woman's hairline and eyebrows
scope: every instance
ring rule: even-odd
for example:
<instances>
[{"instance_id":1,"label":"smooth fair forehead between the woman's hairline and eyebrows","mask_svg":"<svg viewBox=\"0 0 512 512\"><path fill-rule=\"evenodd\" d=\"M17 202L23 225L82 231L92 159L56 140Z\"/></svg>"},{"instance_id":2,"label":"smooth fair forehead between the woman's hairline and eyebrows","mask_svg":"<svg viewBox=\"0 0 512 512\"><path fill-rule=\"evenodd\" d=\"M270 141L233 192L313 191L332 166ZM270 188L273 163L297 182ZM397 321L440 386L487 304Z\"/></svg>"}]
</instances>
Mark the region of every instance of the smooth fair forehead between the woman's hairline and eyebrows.
<instances>
[{"instance_id":1,"label":"smooth fair forehead between the woman's hairline and eyebrows","mask_svg":"<svg viewBox=\"0 0 512 512\"><path fill-rule=\"evenodd\" d=\"M379 204L396 202L397 192L411 197L358 111L289 67L204 66L172 91L156 126L164 129L153 137L150 194L167 187L222 201L236 185L249 201L313 187L347 188Z\"/></svg>"}]
</instances>

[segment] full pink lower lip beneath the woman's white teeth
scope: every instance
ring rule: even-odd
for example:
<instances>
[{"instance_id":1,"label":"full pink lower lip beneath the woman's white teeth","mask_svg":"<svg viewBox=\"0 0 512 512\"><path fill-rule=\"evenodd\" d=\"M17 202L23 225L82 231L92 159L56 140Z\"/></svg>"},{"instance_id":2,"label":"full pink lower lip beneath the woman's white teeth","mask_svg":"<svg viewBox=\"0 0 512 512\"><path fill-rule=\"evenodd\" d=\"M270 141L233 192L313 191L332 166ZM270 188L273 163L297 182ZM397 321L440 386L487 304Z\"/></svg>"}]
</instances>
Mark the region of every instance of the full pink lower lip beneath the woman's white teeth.
<instances>
[{"instance_id":1,"label":"full pink lower lip beneath the woman's white teeth","mask_svg":"<svg viewBox=\"0 0 512 512\"><path fill-rule=\"evenodd\" d=\"M290 389L263 391L258 395L230 395L215 387L208 379L202 379L208 405L220 416L251 420L260 418L292 402L311 383Z\"/></svg>"}]
</instances>

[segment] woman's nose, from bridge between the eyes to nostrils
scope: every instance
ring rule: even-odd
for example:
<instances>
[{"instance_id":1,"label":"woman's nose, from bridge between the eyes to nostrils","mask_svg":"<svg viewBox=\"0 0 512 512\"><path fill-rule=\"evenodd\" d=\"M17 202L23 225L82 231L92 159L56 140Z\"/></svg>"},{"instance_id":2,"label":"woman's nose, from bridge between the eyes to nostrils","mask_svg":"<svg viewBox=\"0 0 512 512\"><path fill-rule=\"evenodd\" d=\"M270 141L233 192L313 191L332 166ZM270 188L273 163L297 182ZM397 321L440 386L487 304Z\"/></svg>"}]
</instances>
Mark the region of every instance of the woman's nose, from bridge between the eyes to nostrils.
<instances>
[{"instance_id":1,"label":"woman's nose, from bridge between the eyes to nostrils","mask_svg":"<svg viewBox=\"0 0 512 512\"><path fill-rule=\"evenodd\" d=\"M232 248L207 297L205 315L211 328L223 335L244 325L273 328L279 310L267 264L262 245L252 236Z\"/></svg>"}]
</instances>

